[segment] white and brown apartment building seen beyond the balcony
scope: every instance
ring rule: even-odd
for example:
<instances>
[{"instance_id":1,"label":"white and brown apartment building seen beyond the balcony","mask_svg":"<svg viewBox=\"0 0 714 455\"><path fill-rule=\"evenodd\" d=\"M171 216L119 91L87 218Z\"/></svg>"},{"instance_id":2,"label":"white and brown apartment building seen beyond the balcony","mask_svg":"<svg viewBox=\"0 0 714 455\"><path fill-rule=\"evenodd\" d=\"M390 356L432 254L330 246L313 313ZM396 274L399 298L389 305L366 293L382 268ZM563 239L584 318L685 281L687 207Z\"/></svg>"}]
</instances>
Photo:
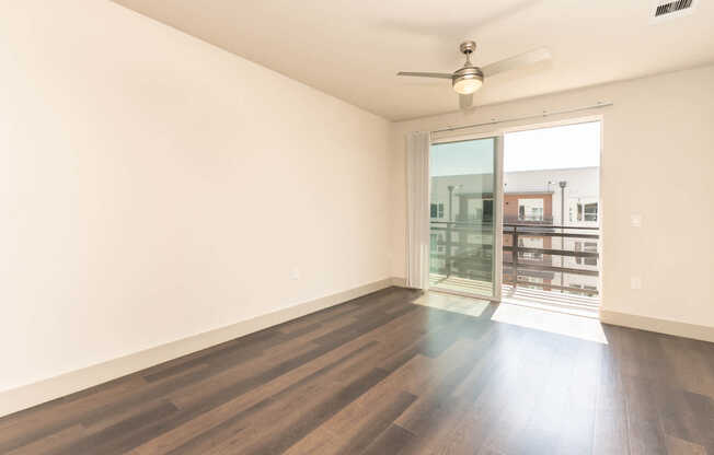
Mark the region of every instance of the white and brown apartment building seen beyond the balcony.
<instances>
[{"instance_id":1,"label":"white and brown apartment building seen beyond the balcony","mask_svg":"<svg viewBox=\"0 0 714 455\"><path fill-rule=\"evenodd\" d=\"M433 177L431 272L491 280L493 245L493 176L482 174ZM518 246L597 253L597 240L522 234L523 226L543 230L599 226L599 167L539 170L504 175L504 246L511 247L511 225L519 226ZM595 231L597 232L597 231ZM504 250L504 282L513 282L513 254ZM520 252L519 264L598 270L597 258ZM598 291L598 277L549 270L518 271L519 281L534 288L551 285ZM519 285L521 285L519 283Z\"/></svg>"}]
</instances>

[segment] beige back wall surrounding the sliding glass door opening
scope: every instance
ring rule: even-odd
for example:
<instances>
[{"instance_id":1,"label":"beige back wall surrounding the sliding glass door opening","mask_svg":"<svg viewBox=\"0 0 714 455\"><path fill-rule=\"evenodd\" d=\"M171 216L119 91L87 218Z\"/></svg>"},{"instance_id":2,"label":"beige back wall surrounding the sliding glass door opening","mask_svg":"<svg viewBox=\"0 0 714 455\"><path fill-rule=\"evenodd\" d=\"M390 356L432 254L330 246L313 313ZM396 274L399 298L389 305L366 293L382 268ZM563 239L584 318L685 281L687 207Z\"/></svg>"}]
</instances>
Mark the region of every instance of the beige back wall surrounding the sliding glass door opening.
<instances>
[{"instance_id":1,"label":"beige back wall surrounding the sliding glass door opening","mask_svg":"<svg viewBox=\"0 0 714 455\"><path fill-rule=\"evenodd\" d=\"M603 116L603 308L714 326L714 67L394 124L392 275L405 275L404 133L611 101ZM456 102L456 101L454 101ZM521 124L533 124L527 121ZM510 128L518 124L499 127ZM474 129L474 132L491 128ZM643 217L631 226L631 214ZM631 289L631 277L642 289Z\"/></svg>"}]
</instances>

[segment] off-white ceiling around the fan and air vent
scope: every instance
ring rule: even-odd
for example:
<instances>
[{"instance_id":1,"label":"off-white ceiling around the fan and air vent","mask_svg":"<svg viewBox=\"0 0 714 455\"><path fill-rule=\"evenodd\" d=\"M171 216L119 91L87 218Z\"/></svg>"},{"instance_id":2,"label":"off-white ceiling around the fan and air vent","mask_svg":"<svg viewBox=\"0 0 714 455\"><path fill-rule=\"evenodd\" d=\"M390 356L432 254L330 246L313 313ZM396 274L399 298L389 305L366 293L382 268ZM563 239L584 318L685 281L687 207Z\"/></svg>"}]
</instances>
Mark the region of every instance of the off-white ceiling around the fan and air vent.
<instances>
[{"instance_id":1,"label":"off-white ceiling around the fan and air vent","mask_svg":"<svg viewBox=\"0 0 714 455\"><path fill-rule=\"evenodd\" d=\"M552 62L494 75L484 105L714 61L714 2L650 23L650 0L115 0L392 120L458 109L448 80L474 39L476 65L546 46ZM653 96L657 96L653 93Z\"/></svg>"}]
</instances>

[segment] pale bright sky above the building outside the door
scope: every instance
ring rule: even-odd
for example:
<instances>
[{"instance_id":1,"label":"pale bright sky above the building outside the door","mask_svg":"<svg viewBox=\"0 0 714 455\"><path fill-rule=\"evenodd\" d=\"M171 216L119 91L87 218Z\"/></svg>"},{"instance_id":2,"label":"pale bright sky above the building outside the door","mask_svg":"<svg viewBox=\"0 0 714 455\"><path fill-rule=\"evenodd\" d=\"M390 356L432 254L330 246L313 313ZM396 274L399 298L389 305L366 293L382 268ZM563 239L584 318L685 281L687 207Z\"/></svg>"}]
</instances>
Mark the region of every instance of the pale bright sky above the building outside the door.
<instances>
[{"instance_id":1,"label":"pale bright sky above the building outside the door","mask_svg":"<svg viewBox=\"0 0 714 455\"><path fill-rule=\"evenodd\" d=\"M493 172L493 139L431 145L429 174ZM600 165L600 122L565 125L504 136L504 172Z\"/></svg>"}]
</instances>

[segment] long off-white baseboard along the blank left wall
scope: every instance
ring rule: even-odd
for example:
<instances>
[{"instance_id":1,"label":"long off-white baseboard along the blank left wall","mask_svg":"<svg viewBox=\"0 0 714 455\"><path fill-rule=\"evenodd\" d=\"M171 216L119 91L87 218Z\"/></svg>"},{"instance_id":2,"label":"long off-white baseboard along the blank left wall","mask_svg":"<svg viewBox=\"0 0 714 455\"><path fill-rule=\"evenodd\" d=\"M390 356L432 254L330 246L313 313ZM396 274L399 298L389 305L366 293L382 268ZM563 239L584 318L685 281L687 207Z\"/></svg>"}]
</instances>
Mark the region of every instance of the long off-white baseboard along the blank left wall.
<instances>
[{"instance_id":1,"label":"long off-white baseboard along the blank left wall","mask_svg":"<svg viewBox=\"0 0 714 455\"><path fill-rule=\"evenodd\" d=\"M0 393L0 417L103 384L107 381L116 380L149 366L158 365L257 330L263 330L264 328L283 324L310 313L367 295L371 292L392 285L400 285L394 284L395 280L400 282L399 279L394 278L375 281L333 295L304 302L289 308L242 320L216 330L183 338L156 348L2 392Z\"/></svg>"}]
</instances>

